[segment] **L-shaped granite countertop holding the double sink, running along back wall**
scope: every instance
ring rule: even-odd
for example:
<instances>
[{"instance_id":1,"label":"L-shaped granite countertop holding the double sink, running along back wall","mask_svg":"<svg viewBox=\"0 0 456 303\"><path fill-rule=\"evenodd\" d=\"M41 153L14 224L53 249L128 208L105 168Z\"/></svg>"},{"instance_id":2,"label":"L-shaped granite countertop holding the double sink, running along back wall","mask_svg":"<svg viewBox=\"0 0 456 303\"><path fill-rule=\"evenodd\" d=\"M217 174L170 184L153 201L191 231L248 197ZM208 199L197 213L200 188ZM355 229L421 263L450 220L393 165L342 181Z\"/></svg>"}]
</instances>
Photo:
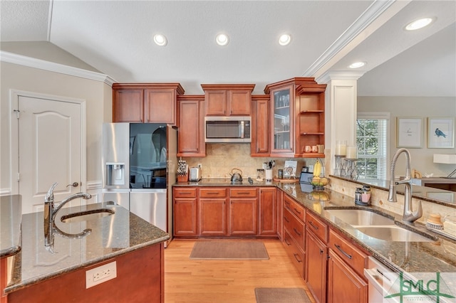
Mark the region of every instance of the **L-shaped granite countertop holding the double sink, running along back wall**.
<instances>
[{"instance_id":1,"label":"L-shaped granite countertop holding the double sink, running along back wall","mask_svg":"<svg viewBox=\"0 0 456 303\"><path fill-rule=\"evenodd\" d=\"M175 186L231 186L229 180L202 179L199 182L184 182ZM420 223L407 224L402 222L402 215L391 213L377 206L356 206L353 197L343 195L325 188L324 192L329 197L328 201L314 199L309 187L302 187L299 183L265 183L243 184L243 186L277 186L286 192L295 201L305 206L308 211L316 214L329 226L341 231L347 238L353 240L373 257L395 272L456 272L456 241L442 237L437 233L427 230ZM393 242L371 238L361 233L351 225L331 216L326 208L365 208L376 213L383 213L394 218L397 225L413 229L418 233L425 233L436 238L434 242Z\"/></svg>"}]
</instances>

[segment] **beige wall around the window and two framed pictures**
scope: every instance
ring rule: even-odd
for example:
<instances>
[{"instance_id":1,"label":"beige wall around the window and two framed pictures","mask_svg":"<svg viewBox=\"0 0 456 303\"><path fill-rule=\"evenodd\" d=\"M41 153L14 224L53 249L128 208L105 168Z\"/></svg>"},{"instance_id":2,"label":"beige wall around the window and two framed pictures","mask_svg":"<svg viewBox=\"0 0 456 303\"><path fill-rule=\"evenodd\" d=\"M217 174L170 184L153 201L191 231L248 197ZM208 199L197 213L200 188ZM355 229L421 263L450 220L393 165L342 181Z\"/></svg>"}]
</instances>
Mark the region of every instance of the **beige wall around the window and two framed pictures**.
<instances>
[{"instance_id":1,"label":"beige wall around the window and two framed pictures","mask_svg":"<svg viewBox=\"0 0 456 303\"><path fill-rule=\"evenodd\" d=\"M358 112L390 112L390 158L398 149L396 147L397 117L456 117L455 97L358 97ZM423 148L408 148L412 169L422 174L447 176L456 166L434 164L433 154L456 154L452 149L427 148L427 122L423 120ZM388 161L389 163L389 161ZM396 165L396 175L405 174L405 156L400 156Z\"/></svg>"}]
</instances>

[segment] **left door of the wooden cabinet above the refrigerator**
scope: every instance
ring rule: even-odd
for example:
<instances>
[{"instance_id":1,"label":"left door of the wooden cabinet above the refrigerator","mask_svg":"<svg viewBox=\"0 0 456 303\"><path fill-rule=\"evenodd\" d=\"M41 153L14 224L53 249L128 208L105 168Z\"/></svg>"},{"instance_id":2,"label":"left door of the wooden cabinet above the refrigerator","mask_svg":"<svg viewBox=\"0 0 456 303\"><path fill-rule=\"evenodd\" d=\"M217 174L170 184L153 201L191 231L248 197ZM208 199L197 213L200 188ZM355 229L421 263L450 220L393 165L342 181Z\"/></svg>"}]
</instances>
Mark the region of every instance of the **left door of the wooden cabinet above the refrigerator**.
<instances>
[{"instance_id":1,"label":"left door of the wooden cabinet above the refrigerator","mask_svg":"<svg viewBox=\"0 0 456 303\"><path fill-rule=\"evenodd\" d=\"M142 89L113 90L113 122L144 122Z\"/></svg>"}]
</instances>

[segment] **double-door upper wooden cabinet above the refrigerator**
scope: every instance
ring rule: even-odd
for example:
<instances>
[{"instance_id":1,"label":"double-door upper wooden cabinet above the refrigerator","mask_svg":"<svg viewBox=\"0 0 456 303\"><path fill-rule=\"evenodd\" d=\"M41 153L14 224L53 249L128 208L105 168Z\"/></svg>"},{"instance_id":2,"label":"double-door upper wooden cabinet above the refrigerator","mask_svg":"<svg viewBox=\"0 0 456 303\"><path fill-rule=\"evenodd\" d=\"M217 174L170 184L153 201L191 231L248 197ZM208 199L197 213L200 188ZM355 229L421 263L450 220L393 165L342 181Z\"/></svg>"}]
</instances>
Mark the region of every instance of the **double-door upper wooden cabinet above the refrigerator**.
<instances>
[{"instance_id":1,"label":"double-door upper wooden cabinet above the refrigerator","mask_svg":"<svg viewBox=\"0 0 456 303\"><path fill-rule=\"evenodd\" d=\"M113 122L176 124L179 83L114 83Z\"/></svg>"}]
</instances>

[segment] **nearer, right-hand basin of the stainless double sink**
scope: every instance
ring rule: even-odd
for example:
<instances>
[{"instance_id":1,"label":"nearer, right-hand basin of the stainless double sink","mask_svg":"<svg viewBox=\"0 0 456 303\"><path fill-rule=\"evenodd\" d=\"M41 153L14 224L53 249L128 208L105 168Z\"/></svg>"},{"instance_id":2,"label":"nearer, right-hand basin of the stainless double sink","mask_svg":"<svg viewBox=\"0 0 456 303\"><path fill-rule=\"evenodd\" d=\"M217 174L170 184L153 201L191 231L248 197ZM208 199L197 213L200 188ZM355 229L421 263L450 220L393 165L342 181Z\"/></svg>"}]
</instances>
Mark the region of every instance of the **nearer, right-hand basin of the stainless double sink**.
<instances>
[{"instance_id":1,"label":"nearer, right-hand basin of the stainless double sink","mask_svg":"<svg viewBox=\"0 0 456 303\"><path fill-rule=\"evenodd\" d=\"M361 233L373 238L393 242L434 242L431 238L420 235L397 225L353 226Z\"/></svg>"}]
</instances>

